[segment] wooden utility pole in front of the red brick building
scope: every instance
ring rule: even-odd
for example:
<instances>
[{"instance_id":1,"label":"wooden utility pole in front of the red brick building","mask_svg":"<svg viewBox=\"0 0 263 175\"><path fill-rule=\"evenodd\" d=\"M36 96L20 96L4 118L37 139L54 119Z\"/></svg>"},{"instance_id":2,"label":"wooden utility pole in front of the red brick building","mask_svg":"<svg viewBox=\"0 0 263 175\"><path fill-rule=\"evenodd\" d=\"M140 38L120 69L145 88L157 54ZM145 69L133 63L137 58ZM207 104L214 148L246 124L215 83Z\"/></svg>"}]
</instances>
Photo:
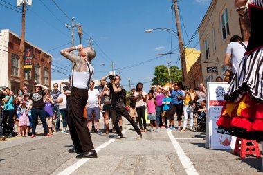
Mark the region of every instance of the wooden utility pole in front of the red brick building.
<instances>
[{"instance_id":1,"label":"wooden utility pole in front of the red brick building","mask_svg":"<svg viewBox=\"0 0 263 175\"><path fill-rule=\"evenodd\" d=\"M24 48L25 48L25 24L26 24L26 0L17 0L17 6L22 3L22 26L20 40L20 89L24 87ZM32 0L28 0L28 6L32 6Z\"/></svg>"}]
</instances>

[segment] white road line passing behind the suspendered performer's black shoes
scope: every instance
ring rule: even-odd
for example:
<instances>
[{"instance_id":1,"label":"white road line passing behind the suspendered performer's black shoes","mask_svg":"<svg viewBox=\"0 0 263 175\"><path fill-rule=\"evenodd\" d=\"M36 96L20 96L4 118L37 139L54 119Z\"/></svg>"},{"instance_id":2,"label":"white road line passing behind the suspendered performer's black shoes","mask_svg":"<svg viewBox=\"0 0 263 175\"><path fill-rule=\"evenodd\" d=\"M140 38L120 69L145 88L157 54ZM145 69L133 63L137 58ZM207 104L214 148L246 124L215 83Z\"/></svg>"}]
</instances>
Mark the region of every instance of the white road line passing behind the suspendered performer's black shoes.
<instances>
[{"instance_id":1,"label":"white road line passing behind the suspendered performer's black shoes","mask_svg":"<svg viewBox=\"0 0 263 175\"><path fill-rule=\"evenodd\" d=\"M125 132L127 132L130 129L130 127L127 127L126 129L123 130L123 134ZM109 141L103 143L102 145L100 145L99 147L97 147L95 150L97 151L97 153L107 147L109 144L111 144L112 142L114 142L116 139L115 138L111 138ZM67 167L66 169L64 169L64 171L60 172L58 175L69 175L73 172L75 172L76 169L78 169L79 167L81 167L84 163L87 163L91 158L84 158L84 159L80 159L78 160L78 162L74 163L73 165Z\"/></svg>"}]
</instances>

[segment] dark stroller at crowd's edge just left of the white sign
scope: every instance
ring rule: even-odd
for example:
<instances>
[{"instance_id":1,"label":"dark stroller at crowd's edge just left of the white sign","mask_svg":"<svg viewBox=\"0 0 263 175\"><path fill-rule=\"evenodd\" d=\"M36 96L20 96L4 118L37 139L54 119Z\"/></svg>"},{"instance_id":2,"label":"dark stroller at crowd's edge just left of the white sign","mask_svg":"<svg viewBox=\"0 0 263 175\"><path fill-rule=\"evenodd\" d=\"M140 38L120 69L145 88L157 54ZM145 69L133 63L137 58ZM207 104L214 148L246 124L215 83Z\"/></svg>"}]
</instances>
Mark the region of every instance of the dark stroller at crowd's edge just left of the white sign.
<instances>
[{"instance_id":1,"label":"dark stroller at crowd's edge just left of the white sign","mask_svg":"<svg viewBox=\"0 0 263 175\"><path fill-rule=\"evenodd\" d=\"M192 131L206 131L206 112L198 111L202 109L198 102L194 104L194 125Z\"/></svg>"}]
</instances>

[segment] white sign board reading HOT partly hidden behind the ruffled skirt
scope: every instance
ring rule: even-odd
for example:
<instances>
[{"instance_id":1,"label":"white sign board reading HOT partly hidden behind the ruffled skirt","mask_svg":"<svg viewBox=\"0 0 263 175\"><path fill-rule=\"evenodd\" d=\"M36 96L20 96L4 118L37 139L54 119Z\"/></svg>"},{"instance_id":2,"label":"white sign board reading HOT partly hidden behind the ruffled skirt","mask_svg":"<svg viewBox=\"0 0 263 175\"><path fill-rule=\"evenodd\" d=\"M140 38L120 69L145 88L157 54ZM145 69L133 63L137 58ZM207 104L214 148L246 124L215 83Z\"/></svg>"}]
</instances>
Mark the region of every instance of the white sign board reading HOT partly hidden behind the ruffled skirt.
<instances>
[{"instance_id":1,"label":"white sign board reading HOT partly hidden behind the ruffled skirt","mask_svg":"<svg viewBox=\"0 0 263 175\"><path fill-rule=\"evenodd\" d=\"M226 82L208 82L207 114L209 122L209 149L234 149L234 136L217 133L217 120L224 105L224 94L228 91Z\"/></svg>"}]
</instances>

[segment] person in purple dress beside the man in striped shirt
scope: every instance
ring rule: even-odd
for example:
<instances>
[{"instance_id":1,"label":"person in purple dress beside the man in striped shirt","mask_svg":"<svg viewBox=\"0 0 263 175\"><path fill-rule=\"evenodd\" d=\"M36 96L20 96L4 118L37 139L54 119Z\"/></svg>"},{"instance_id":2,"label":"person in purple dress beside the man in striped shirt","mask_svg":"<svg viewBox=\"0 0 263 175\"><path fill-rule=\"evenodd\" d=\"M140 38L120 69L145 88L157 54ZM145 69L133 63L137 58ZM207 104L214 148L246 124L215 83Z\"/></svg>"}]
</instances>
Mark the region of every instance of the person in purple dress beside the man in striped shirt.
<instances>
[{"instance_id":1,"label":"person in purple dress beside the man in striped shirt","mask_svg":"<svg viewBox=\"0 0 263 175\"><path fill-rule=\"evenodd\" d=\"M52 95L48 93L46 93L46 95L44 96L44 104L45 104L45 111L46 111L46 122L48 125L48 132L50 134L53 134L52 132L52 120L53 120L53 109L52 109L52 105L54 104L53 101L53 97Z\"/></svg>"}]
</instances>

